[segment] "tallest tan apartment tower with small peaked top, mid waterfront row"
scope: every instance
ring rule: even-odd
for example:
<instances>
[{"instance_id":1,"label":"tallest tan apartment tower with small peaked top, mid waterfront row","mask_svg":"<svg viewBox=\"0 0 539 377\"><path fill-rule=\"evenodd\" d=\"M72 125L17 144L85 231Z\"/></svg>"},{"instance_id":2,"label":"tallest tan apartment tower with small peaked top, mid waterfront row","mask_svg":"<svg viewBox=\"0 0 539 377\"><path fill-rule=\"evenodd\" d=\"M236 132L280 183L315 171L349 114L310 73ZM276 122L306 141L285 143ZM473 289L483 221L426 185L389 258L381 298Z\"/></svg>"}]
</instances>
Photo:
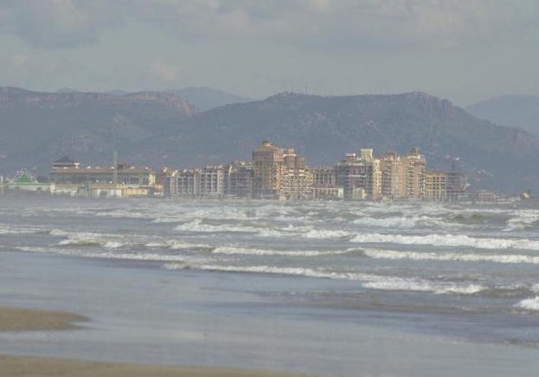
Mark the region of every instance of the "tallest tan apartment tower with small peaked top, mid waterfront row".
<instances>
[{"instance_id":1,"label":"tallest tan apartment tower with small peaked top, mid waterfront row","mask_svg":"<svg viewBox=\"0 0 539 377\"><path fill-rule=\"evenodd\" d=\"M284 151L262 141L252 152L253 196L279 198L282 189Z\"/></svg>"}]
</instances>

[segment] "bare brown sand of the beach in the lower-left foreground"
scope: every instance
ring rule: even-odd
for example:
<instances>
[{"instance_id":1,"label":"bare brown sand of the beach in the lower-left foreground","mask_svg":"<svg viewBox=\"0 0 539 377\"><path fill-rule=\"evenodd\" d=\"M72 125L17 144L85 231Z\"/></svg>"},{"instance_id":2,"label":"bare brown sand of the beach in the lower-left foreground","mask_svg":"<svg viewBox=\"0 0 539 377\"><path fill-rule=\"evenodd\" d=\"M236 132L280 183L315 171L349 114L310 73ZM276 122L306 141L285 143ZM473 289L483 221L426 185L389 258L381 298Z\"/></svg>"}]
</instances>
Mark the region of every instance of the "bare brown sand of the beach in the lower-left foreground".
<instances>
[{"instance_id":1,"label":"bare brown sand of the beach in the lower-left foreground","mask_svg":"<svg viewBox=\"0 0 539 377\"><path fill-rule=\"evenodd\" d=\"M85 321L87 321L86 317L68 312L0 307L0 331L26 332L75 329L77 327L76 322ZM0 376L292 377L298 375L221 368L115 364L31 356L0 355Z\"/></svg>"}]
</instances>

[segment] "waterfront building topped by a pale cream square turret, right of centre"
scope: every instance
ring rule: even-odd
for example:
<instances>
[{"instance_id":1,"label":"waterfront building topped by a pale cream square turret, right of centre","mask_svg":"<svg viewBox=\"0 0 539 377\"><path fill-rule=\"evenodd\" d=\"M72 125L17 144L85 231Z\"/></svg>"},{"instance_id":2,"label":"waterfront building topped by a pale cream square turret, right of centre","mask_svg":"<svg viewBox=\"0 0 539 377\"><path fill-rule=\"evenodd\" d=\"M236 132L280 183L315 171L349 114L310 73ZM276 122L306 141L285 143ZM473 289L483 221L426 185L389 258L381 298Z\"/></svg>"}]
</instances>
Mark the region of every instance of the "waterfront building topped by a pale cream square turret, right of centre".
<instances>
[{"instance_id":1,"label":"waterfront building topped by a pale cream square turret, right of centre","mask_svg":"<svg viewBox=\"0 0 539 377\"><path fill-rule=\"evenodd\" d=\"M361 149L360 155L347 153L335 165L336 185L343 187L345 200L380 200L382 171L380 160L373 158L373 150Z\"/></svg>"}]
</instances>

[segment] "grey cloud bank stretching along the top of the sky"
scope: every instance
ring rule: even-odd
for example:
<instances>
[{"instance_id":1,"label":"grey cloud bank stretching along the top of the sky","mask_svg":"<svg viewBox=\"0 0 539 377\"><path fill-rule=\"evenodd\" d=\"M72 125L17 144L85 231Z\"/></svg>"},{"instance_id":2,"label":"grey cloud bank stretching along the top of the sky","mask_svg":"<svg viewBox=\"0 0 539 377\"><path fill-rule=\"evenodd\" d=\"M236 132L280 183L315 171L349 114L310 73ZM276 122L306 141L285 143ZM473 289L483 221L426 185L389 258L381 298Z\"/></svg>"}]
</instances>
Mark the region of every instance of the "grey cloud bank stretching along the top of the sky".
<instances>
[{"instance_id":1,"label":"grey cloud bank stretching along the top of the sky","mask_svg":"<svg viewBox=\"0 0 539 377\"><path fill-rule=\"evenodd\" d=\"M536 0L6 0L0 31L45 48L144 23L178 40L335 48L476 48L538 35Z\"/></svg>"}]
</instances>

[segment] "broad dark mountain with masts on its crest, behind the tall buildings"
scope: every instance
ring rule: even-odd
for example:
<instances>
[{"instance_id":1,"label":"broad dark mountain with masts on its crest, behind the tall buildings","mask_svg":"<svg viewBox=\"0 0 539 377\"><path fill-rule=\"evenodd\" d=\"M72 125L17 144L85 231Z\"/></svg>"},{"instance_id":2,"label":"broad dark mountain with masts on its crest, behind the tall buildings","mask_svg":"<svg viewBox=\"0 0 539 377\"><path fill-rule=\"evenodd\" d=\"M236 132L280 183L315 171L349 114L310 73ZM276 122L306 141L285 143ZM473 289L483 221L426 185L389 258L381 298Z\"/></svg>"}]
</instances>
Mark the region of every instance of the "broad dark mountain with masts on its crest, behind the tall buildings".
<instances>
[{"instance_id":1,"label":"broad dark mountain with masts on its crest, behind the tall buildings","mask_svg":"<svg viewBox=\"0 0 539 377\"><path fill-rule=\"evenodd\" d=\"M196 131L195 131L196 130ZM181 163L250 158L262 139L294 146L311 165L333 165L344 153L406 153L419 146L430 168L466 170L475 187L518 191L539 185L539 141L522 129L496 126L451 102L413 92L319 97L279 94L223 106L181 122L162 148L182 148Z\"/></svg>"}]
</instances>

